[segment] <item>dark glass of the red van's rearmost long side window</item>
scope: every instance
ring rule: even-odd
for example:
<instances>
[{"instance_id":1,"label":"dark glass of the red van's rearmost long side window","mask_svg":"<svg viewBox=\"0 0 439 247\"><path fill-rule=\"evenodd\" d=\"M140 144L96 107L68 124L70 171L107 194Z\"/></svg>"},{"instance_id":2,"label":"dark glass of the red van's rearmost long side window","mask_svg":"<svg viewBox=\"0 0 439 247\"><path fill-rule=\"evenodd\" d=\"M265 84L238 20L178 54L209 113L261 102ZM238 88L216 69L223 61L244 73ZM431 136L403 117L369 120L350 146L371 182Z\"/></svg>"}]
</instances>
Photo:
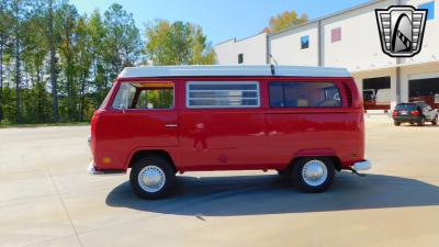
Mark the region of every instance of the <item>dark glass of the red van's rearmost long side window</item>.
<instances>
[{"instance_id":1,"label":"dark glass of the red van's rearmost long side window","mask_svg":"<svg viewBox=\"0 0 439 247\"><path fill-rule=\"evenodd\" d=\"M333 82L270 82L272 108L338 108L340 91Z\"/></svg>"}]
</instances>

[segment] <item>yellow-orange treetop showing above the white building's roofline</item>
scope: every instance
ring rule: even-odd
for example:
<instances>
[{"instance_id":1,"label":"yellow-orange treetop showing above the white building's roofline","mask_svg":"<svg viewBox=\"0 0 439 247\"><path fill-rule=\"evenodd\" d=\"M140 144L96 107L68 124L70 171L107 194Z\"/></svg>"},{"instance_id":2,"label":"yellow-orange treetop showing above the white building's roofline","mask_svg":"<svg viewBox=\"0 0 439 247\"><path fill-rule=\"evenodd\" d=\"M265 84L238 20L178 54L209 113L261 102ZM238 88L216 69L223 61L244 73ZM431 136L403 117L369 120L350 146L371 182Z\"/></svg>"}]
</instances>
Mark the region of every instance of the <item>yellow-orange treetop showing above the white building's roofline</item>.
<instances>
[{"instance_id":1,"label":"yellow-orange treetop showing above the white building's roofline","mask_svg":"<svg viewBox=\"0 0 439 247\"><path fill-rule=\"evenodd\" d=\"M284 29L300 25L306 23L308 21L308 16L306 14L302 14L297 16L297 13L292 11L284 11L283 13L279 13L275 16L270 19L269 26L263 30L267 33L277 33Z\"/></svg>"}]
</instances>

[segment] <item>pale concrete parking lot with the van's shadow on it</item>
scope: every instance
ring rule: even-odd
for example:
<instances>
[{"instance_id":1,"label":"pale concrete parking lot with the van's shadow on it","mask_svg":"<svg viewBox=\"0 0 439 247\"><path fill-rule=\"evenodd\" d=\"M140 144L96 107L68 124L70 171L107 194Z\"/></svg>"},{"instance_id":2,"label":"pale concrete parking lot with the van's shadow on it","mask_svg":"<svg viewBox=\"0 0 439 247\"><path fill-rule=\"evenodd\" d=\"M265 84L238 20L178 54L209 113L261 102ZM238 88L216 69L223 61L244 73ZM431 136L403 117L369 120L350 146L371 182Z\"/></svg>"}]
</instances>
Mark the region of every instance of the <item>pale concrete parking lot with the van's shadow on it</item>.
<instances>
[{"instance_id":1,"label":"pale concrete parking lot with the van's shadow on it","mask_svg":"<svg viewBox=\"0 0 439 247\"><path fill-rule=\"evenodd\" d=\"M274 172L184 173L143 201L87 173L88 126L0 130L0 246L438 246L439 127L367 120L362 178L320 194Z\"/></svg>"}]
</instances>

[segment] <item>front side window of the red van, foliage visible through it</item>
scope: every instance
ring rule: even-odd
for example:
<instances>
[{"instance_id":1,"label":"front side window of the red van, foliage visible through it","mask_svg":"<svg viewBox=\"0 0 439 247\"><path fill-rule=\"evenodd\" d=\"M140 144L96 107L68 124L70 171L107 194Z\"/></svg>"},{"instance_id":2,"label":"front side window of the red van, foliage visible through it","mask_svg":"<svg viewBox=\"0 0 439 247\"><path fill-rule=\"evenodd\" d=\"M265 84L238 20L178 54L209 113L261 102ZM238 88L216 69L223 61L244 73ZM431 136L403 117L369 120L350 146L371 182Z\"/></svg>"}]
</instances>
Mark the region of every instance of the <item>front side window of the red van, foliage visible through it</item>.
<instances>
[{"instance_id":1,"label":"front side window of the red van, foliage visible through it","mask_svg":"<svg viewBox=\"0 0 439 247\"><path fill-rule=\"evenodd\" d=\"M122 83L112 103L113 109L171 109L173 85Z\"/></svg>"}]
</instances>

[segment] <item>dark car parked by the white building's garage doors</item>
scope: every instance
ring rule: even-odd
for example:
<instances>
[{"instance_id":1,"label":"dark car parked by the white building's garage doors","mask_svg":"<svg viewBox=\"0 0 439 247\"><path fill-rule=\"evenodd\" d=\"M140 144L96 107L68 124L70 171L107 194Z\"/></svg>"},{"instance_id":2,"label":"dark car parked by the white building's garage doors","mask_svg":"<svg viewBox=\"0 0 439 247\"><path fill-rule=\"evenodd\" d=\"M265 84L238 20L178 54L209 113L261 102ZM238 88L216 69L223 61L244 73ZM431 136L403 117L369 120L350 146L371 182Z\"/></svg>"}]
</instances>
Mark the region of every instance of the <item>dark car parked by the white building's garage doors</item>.
<instances>
[{"instance_id":1,"label":"dark car parked by the white building's garage doors","mask_svg":"<svg viewBox=\"0 0 439 247\"><path fill-rule=\"evenodd\" d=\"M438 112L424 101L399 103L393 110L393 121L396 126L401 123L425 125L425 122L438 124Z\"/></svg>"}]
</instances>

